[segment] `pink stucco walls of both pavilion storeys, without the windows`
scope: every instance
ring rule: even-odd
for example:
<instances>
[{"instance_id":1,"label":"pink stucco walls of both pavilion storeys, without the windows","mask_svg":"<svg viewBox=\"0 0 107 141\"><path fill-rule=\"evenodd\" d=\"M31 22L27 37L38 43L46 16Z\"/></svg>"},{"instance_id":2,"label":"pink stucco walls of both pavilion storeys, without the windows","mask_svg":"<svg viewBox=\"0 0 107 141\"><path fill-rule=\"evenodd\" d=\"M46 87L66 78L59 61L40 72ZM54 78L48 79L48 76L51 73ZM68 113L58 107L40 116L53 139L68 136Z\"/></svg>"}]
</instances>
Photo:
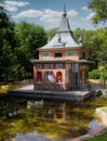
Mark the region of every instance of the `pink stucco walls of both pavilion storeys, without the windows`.
<instances>
[{"instance_id":1,"label":"pink stucco walls of both pavilion storeys, without the windows","mask_svg":"<svg viewBox=\"0 0 107 141\"><path fill-rule=\"evenodd\" d=\"M76 54L71 55L71 56L67 56L66 55L66 51L75 51ZM50 56L41 56L41 52L50 52ZM39 50L39 60L53 60L54 59L54 54L55 53L62 53L62 59L67 59L67 60L72 60L72 61L78 61L80 59L86 59L88 54L86 51L84 49L79 49L79 48L71 48L71 49L56 49L56 50ZM61 59L61 57L59 57ZM58 60L58 57L57 57ZM49 64L48 62L44 63L39 63L42 64L42 68L37 68L37 63L34 63L34 84L35 84L35 88L53 88L53 89L69 89L70 87L72 87L73 84L73 77L72 77L72 64L70 63L70 68L66 68L66 62L59 63L63 64L63 68L56 68L55 65L57 63L51 63L53 64L53 68L49 69L45 68L44 65ZM45 81L45 72L53 72L53 81L51 82L46 82ZM56 74L57 72L62 73L62 82L56 82ZM41 76L41 81L37 81L37 73L40 73ZM67 75L69 76L68 80L67 80ZM84 75L84 78L82 77ZM85 85L88 82L88 68L83 67L82 65L79 65L78 68L78 76L79 76L79 80L78 80L78 85L82 86Z\"/></svg>"}]
</instances>

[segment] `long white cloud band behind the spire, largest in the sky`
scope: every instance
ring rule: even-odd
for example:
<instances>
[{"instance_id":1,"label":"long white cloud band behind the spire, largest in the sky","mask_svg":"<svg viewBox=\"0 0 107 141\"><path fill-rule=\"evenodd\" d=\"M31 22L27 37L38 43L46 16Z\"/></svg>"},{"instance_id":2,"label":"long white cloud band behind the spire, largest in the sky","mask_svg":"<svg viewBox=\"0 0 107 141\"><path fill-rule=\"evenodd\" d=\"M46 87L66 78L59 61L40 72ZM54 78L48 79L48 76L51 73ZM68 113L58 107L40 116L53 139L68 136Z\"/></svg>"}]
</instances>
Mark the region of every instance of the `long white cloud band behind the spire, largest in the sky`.
<instances>
[{"instance_id":1,"label":"long white cloud band behind the spire, largest in the sky","mask_svg":"<svg viewBox=\"0 0 107 141\"><path fill-rule=\"evenodd\" d=\"M70 10L67 12L69 16L77 16L78 12L75 10ZM14 18L22 18L22 17L40 17L40 21L43 23L51 23L56 24L59 22L62 12L59 11L52 11L50 9L38 11L38 10L28 10L23 11L19 14L13 16Z\"/></svg>"}]
</instances>

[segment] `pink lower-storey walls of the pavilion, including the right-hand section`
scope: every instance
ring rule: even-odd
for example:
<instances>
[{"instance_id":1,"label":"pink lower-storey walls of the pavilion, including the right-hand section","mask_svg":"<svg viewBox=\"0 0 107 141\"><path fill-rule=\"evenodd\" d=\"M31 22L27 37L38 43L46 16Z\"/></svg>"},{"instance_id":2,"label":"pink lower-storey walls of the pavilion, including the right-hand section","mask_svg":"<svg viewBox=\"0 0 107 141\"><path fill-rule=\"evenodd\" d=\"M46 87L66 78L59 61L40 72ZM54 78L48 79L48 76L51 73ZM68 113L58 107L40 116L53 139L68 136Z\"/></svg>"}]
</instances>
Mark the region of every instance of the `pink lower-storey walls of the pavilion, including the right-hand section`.
<instances>
[{"instance_id":1,"label":"pink lower-storey walls of the pavilion, including the right-hand section","mask_svg":"<svg viewBox=\"0 0 107 141\"><path fill-rule=\"evenodd\" d=\"M44 64L42 64L43 66ZM71 64L70 64L71 65ZM41 82L38 82L37 81L37 73L40 72L42 74L42 81ZM53 72L53 76L54 76L54 79L52 82L46 82L45 81L45 78L44 78L44 73L45 72ZM61 72L62 73L62 82L56 82L56 74L57 72ZM82 86L82 72L84 72L84 84L88 82L88 69L84 69L84 68L79 68L79 81L78 84L80 86ZM69 74L69 80L68 82L66 81L66 75L67 73ZM51 68L51 69L45 69L44 67L42 69L37 69L36 68L36 64L34 65L34 82L35 82L35 88L39 87L39 88L55 88L55 89L69 89L72 87L72 67L68 69L68 72L66 72L66 65L63 64L63 68L55 68L55 64L54 64L54 67Z\"/></svg>"}]
</instances>

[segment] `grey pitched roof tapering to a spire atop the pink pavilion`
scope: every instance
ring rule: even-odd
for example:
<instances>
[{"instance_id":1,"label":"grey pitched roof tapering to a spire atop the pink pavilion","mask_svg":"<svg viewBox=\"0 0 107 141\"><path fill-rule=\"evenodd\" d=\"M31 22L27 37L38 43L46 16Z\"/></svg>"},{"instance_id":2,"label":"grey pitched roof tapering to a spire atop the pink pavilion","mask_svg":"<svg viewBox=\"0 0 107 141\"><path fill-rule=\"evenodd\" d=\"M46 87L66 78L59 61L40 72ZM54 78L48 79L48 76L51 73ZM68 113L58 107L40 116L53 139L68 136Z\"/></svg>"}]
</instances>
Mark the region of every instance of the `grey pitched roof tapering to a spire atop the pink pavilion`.
<instances>
[{"instance_id":1,"label":"grey pitched roof tapering to a spire atop the pink pavilion","mask_svg":"<svg viewBox=\"0 0 107 141\"><path fill-rule=\"evenodd\" d=\"M59 27L53 37L53 39L48 42L48 44L39 48L39 50L42 49L64 49L64 48L73 48L73 47L82 47L81 43L78 43L77 40L73 37L73 34L69 26L69 21L67 17L67 13L64 10Z\"/></svg>"}]
</instances>

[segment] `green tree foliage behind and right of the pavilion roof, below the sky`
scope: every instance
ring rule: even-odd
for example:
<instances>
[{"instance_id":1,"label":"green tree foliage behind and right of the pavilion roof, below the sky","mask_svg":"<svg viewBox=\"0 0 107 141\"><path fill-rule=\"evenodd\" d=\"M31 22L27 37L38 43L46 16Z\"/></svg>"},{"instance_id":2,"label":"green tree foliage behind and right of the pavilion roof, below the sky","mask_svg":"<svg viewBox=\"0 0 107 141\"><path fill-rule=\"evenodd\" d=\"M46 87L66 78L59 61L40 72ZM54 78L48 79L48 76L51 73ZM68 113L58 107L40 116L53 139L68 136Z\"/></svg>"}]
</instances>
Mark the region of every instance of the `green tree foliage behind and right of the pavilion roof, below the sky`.
<instances>
[{"instance_id":1,"label":"green tree foliage behind and right of the pavilion roof, below the sky","mask_svg":"<svg viewBox=\"0 0 107 141\"><path fill-rule=\"evenodd\" d=\"M107 28L97 30L81 30L77 28L75 36L79 40L79 35L83 35L83 47L88 50L89 60L94 64L90 65L90 70L95 69L98 65L104 65L107 68Z\"/></svg>"}]
</instances>

